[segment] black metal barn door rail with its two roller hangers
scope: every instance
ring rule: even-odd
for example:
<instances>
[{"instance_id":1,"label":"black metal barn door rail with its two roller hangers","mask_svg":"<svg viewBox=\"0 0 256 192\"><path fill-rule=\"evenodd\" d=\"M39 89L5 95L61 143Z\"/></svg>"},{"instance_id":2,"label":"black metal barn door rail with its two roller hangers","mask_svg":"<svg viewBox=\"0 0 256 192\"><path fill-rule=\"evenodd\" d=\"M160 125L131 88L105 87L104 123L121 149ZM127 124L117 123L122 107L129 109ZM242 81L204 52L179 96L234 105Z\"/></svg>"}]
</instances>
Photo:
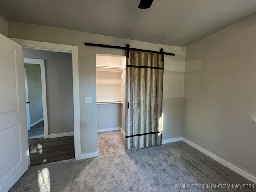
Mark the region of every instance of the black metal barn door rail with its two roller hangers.
<instances>
[{"instance_id":1,"label":"black metal barn door rail with its two roller hangers","mask_svg":"<svg viewBox=\"0 0 256 192\"><path fill-rule=\"evenodd\" d=\"M143 51L143 52L148 52L148 53L158 53L158 54L162 55L162 57L161 57L162 61L164 60L164 55L175 55L175 53L166 53L166 52L164 52L164 49L160 49L160 51L151 51L151 50L130 48L130 44L126 44L125 47L104 45L104 44L95 44L95 43L84 43L84 45L127 50L127 58L129 58L129 50Z\"/></svg>"}]
</instances>

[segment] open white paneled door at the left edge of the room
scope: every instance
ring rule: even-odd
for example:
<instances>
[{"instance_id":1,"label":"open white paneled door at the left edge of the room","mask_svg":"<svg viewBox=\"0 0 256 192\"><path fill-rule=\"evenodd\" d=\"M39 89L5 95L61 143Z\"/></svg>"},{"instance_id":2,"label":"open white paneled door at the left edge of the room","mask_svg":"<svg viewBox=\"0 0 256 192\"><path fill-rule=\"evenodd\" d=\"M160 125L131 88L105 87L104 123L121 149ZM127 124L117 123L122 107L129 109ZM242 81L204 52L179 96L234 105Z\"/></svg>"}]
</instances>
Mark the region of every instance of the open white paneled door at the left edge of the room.
<instances>
[{"instance_id":1,"label":"open white paneled door at the left edge of the room","mask_svg":"<svg viewBox=\"0 0 256 192\"><path fill-rule=\"evenodd\" d=\"M0 191L29 166L22 47L0 34Z\"/></svg>"}]
</instances>

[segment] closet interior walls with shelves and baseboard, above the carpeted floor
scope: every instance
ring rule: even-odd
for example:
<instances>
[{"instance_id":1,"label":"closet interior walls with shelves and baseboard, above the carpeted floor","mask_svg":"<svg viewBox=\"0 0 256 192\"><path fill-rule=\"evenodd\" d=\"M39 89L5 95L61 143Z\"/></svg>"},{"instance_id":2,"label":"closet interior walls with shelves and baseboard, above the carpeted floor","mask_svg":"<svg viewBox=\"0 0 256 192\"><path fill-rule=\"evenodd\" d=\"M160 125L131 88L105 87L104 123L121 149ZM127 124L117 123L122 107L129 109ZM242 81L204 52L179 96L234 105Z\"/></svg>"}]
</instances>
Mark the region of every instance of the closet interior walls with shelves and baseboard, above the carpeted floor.
<instances>
[{"instance_id":1,"label":"closet interior walls with shelves and baseboard, above the carpeted floor","mask_svg":"<svg viewBox=\"0 0 256 192\"><path fill-rule=\"evenodd\" d=\"M125 57L96 55L97 131L125 132Z\"/></svg>"}]
</instances>

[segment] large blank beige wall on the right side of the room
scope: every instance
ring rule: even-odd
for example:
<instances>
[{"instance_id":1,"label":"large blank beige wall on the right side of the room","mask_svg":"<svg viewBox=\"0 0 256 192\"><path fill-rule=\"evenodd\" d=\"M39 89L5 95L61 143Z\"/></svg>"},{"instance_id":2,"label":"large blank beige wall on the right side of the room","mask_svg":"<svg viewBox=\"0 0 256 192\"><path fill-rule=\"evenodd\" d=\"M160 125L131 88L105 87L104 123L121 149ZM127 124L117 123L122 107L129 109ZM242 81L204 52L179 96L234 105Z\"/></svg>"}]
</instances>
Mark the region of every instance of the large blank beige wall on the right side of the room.
<instances>
[{"instance_id":1,"label":"large blank beige wall on the right side of the room","mask_svg":"<svg viewBox=\"0 0 256 192\"><path fill-rule=\"evenodd\" d=\"M186 47L183 137L256 176L256 15Z\"/></svg>"}]
</instances>

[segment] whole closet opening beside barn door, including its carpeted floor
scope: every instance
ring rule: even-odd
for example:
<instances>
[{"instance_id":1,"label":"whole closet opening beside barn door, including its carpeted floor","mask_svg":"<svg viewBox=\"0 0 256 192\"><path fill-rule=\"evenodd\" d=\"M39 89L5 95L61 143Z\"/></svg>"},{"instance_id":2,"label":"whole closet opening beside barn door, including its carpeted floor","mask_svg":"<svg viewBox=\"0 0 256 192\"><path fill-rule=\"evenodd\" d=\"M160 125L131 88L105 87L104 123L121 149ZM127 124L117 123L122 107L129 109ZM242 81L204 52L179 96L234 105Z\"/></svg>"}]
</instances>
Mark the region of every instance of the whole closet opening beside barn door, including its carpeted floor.
<instances>
[{"instance_id":1,"label":"whole closet opening beside barn door, including its carpeted floor","mask_svg":"<svg viewBox=\"0 0 256 192\"><path fill-rule=\"evenodd\" d=\"M96 54L97 132L100 155L114 154L116 148L125 150L125 66L125 56Z\"/></svg>"}]
</instances>

